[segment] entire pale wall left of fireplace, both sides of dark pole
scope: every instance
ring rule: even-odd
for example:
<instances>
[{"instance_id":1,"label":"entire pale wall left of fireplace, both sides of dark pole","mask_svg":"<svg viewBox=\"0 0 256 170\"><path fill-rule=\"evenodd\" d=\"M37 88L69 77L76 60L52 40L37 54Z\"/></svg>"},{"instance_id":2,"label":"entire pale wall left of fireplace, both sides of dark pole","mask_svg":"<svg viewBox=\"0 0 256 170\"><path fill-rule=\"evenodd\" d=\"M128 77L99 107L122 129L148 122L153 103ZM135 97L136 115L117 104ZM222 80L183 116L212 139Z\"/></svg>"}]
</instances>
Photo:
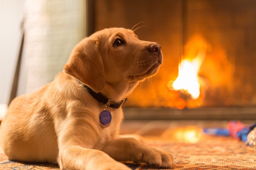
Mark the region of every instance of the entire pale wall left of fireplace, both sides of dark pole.
<instances>
[{"instance_id":1,"label":"entire pale wall left of fireplace, both sides of dark pole","mask_svg":"<svg viewBox=\"0 0 256 170\"><path fill-rule=\"evenodd\" d=\"M0 120L11 93L23 16L17 95L37 90L62 71L71 50L85 36L84 10L85 0L0 0Z\"/></svg>"}]
</instances>

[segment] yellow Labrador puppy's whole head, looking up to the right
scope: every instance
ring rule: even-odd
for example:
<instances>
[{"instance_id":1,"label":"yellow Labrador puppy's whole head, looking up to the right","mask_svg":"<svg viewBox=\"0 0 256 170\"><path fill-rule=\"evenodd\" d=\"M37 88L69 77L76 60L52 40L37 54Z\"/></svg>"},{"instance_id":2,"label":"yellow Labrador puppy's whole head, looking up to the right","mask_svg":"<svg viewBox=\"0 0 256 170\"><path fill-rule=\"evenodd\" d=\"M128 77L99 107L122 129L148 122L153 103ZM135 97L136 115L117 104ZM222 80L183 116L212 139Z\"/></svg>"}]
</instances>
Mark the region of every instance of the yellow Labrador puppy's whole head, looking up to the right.
<instances>
[{"instance_id":1,"label":"yellow Labrador puppy's whole head, looking up to the right","mask_svg":"<svg viewBox=\"0 0 256 170\"><path fill-rule=\"evenodd\" d=\"M157 73L162 64L160 49L160 44L141 41L129 29L103 29L75 46L64 72L96 92L105 84L128 86Z\"/></svg>"}]
</instances>

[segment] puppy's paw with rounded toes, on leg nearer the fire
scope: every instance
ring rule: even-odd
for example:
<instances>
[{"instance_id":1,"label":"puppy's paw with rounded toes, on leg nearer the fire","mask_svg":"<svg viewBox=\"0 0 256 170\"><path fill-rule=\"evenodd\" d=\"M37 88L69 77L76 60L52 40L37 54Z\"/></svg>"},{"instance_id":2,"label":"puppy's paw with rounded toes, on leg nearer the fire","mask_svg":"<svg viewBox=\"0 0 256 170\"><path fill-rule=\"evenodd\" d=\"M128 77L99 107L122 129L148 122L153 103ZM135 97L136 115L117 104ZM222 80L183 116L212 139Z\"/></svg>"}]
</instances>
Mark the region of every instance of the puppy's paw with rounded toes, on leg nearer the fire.
<instances>
[{"instance_id":1,"label":"puppy's paw with rounded toes, on leg nearer the fire","mask_svg":"<svg viewBox=\"0 0 256 170\"><path fill-rule=\"evenodd\" d=\"M174 156L170 153L158 150L156 148L149 148L141 154L141 162L147 163L153 167L170 169L174 166Z\"/></svg>"}]
</instances>

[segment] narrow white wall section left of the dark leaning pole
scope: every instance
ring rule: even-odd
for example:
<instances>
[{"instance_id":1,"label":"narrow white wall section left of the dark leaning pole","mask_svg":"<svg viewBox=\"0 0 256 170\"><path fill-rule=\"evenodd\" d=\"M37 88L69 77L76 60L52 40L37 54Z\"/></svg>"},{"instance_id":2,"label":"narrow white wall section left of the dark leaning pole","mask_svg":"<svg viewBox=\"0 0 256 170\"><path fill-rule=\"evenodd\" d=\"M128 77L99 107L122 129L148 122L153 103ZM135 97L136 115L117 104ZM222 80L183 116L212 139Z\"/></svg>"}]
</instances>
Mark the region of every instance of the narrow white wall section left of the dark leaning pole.
<instances>
[{"instance_id":1,"label":"narrow white wall section left of the dark leaning pole","mask_svg":"<svg viewBox=\"0 0 256 170\"><path fill-rule=\"evenodd\" d=\"M21 42L24 0L0 0L0 119L11 93Z\"/></svg>"}]
</instances>

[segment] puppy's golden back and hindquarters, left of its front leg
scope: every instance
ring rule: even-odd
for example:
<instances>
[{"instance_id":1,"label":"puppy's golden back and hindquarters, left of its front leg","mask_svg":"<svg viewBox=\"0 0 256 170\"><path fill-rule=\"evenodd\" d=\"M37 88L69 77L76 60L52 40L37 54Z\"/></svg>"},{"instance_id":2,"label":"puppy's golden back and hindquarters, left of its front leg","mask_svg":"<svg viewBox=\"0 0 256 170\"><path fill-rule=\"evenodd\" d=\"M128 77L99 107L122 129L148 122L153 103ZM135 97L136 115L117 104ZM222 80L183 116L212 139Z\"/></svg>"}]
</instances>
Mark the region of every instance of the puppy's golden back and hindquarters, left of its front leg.
<instances>
[{"instance_id":1,"label":"puppy's golden back and hindquarters, left of its front leg","mask_svg":"<svg viewBox=\"0 0 256 170\"><path fill-rule=\"evenodd\" d=\"M9 105L0 127L0 144L10 160L56 162L57 142L52 141L56 134L43 97L49 86L18 96Z\"/></svg>"}]
</instances>

